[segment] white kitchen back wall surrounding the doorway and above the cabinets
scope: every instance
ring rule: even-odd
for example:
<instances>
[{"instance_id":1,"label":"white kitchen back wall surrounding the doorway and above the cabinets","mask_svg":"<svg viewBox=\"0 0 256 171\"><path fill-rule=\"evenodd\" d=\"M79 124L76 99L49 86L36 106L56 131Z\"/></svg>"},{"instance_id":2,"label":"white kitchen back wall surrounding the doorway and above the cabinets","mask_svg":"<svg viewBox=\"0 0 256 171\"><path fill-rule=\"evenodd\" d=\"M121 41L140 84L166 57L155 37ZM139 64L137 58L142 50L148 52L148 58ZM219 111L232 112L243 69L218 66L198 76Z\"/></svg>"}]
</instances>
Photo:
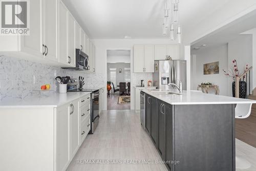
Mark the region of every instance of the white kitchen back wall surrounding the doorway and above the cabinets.
<instances>
[{"instance_id":1,"label":"white kitchen back wall surrounding the doorway and above the cabinets","mask_svg":"<svg viewBox=\"0 0 256 171\"><path fill-rule=\"evenodd\" d=\"M169 39L93 39L92 40L96 47L96 73L102 74L104 82L107 81L107 52L106 50L131 50L131 71L133 72L133 46L134 45L171 45L174 42ZM145 79L146 78L146 79ZM135 107L134 101L134 88L139 83L140 79L152 80L152 74L144 73L132 73L131 74L131 109ZM105 97L106 102L106 97ZM106 103L104 104L104 110L106 110Z\"/></svg>"}]
</instances>

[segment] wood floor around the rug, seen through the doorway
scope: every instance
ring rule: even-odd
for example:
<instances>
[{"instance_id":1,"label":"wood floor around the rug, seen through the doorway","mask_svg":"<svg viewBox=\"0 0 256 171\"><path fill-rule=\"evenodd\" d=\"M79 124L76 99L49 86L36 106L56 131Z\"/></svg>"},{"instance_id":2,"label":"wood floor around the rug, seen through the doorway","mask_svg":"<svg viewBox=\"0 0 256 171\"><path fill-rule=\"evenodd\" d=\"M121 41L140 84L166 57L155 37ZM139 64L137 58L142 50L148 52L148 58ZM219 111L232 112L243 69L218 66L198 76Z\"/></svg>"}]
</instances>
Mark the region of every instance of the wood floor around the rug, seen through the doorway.
<instances>
[{"instance_id":1,"label":"wood floor around the rug, seen through the doorway","mask_svg":"<svg viewBox=\"0 0 256 171\"><path fill-rule=\"evenodd\" d=\"M130 110L130 104L117 104L119 98L119 92L116 92L115 95L107 98L108 100L108 110Z\"/></svg>"}]
</instances>

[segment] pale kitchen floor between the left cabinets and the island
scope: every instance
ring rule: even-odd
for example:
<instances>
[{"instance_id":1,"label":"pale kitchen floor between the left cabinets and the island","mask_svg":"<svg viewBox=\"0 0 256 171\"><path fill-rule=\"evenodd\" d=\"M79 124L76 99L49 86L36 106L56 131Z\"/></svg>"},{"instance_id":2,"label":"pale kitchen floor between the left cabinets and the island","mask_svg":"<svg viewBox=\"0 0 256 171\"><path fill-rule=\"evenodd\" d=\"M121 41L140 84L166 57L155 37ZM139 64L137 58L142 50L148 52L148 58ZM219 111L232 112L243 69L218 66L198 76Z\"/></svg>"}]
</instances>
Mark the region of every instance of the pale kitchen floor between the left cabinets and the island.
<instances>
[{"instance_id":1,"label":"pale kitchen floor between the left cabinets and the island","mask_svg":"<svg viewBox=\"0 0 256 171\"><path fill-rule=\"evenodd\" d=\"M95 133L87 136L67 170L167 170L164 164L77 164L87 159L161 160L140 115L131 110L103 111Z\"/></svg>"}]
</instances>

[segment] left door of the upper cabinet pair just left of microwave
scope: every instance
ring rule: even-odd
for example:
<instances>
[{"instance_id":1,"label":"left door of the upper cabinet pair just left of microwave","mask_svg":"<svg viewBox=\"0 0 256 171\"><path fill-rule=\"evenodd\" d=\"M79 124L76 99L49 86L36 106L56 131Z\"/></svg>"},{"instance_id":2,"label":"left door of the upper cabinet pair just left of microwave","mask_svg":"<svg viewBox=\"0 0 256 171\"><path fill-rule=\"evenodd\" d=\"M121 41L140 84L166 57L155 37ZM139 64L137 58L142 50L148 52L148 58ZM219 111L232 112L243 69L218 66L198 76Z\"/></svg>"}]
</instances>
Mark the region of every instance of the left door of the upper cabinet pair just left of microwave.
<instances>
[{"instance_id":1,"label":"left door of the upper cabinet pair just left of microwave","mask_svg":"<svg viewBox=\"0 0 256 171\"><path fill-rule=\"evenodd\" d=\"M68 10L59 1L59 62L69 65L68 56Z\"/></svg>"}]
</instances>

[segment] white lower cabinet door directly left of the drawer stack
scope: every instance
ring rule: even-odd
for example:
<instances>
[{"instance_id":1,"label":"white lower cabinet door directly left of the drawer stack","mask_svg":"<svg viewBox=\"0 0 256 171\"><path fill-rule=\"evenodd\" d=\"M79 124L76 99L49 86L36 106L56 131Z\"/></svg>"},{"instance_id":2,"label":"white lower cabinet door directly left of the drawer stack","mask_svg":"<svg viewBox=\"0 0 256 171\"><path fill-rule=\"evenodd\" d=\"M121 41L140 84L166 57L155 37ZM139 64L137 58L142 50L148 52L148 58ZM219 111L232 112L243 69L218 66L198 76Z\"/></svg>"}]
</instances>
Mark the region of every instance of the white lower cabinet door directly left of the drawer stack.
<instances>
[{"instance_id":1,"label":"white lower cabinet door directly left of the drawer stack","mask_svg":"<svg viewBox=\"0 0 256 171\"><path fill-rule=\"evenodd\" d=\"M72 101L70 108L70 157L72 159L79 148L79 99Z\"/></svg>"}]
</instances>

